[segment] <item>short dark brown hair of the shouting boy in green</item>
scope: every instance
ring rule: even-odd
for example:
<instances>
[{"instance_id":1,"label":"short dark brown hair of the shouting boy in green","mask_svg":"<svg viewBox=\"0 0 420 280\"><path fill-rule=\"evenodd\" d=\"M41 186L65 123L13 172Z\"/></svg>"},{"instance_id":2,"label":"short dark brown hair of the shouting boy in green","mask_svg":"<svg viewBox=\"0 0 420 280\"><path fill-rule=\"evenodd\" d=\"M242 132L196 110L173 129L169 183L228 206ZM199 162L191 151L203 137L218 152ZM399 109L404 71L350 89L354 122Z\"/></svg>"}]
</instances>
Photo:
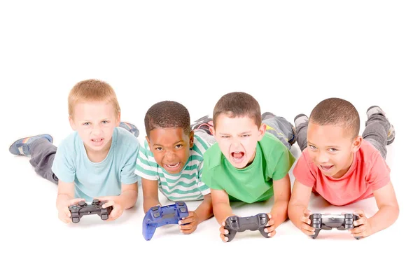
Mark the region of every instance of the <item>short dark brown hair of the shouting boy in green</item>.
<instances>
[{"instance_id":1,"label":"short dark brown hair of the shouting boy in green","mask_svg":"<svg viewBox=\"0 0 420 280\"><path fill-rule=\"evenodd\" d=\"M261 109L257 100L251 94L245 92L230 92L218 100L213 110L213 124L216 128L217 117L222 113L229 118L248 117L255 125L261 125Z\"/></svg>"}]
</instances>

